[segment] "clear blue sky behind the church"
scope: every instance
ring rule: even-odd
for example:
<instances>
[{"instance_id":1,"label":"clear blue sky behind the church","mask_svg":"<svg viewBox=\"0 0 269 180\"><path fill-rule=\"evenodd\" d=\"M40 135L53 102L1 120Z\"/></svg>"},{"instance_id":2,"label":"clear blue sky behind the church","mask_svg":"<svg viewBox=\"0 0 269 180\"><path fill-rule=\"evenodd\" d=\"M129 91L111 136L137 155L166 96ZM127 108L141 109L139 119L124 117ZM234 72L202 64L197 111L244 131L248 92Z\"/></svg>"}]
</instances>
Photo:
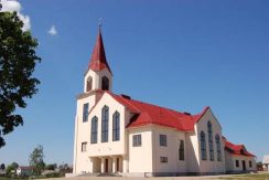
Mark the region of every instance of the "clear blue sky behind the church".
<instances>
[{"instance_id":1,"label":"clear blue sky behind the church","mask_svg":"<svg viewBox=\"0 0 269 180\"><path fill-rule=\"evenodd\" d=\"M260 160L269 153L269 1L21 0L42 63L39 94L19 109L24 125L6 136L0 162L72 163L76 95L83 92L98 19L114 92L200 113L211 106L223 134ZM49 33L54 25L54 31Z\"/></svg>"}]
</instances>

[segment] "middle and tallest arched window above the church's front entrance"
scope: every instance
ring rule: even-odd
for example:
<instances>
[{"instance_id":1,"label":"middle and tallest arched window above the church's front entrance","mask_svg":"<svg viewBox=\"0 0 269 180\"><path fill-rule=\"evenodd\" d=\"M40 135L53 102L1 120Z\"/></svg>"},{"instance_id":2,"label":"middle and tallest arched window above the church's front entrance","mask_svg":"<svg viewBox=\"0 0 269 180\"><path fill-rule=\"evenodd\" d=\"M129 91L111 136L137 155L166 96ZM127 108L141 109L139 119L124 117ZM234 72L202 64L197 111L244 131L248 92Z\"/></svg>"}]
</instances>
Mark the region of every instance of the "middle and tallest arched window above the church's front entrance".
<instances>
[{"instance_id":1,"label":"middle and tallest arched window above the church's front entrance","mask_svg":"<svg viewBox=\"0 0 269 180\"><path fill-rule=\"evenodd\" d=\"M108 141L108 116L109 108L104 106L101 109L101 142Z\"/></svg>"}]
</instances>

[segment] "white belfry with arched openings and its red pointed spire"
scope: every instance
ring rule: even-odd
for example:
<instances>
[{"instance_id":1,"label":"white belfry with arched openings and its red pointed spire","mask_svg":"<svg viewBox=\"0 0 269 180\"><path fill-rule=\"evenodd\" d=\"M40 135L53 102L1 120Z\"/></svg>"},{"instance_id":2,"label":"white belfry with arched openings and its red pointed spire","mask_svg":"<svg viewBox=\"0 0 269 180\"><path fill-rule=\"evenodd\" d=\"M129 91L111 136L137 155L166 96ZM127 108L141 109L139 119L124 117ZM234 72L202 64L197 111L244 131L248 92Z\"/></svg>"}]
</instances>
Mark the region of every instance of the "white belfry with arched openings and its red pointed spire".
<instances>
[{"instance_id":1,"label":"white belfry with arched openings and its red pointed spire","mask_svg":"<svg viewBox=\"0 0 269 180\"><path fill-rule=\"evenodd\" d=\"M89 60L88 70L84 77L84 93L97 89L112 89L112 73L107 63L100 27L94 51Z\"/></svg>"}]
</instances>

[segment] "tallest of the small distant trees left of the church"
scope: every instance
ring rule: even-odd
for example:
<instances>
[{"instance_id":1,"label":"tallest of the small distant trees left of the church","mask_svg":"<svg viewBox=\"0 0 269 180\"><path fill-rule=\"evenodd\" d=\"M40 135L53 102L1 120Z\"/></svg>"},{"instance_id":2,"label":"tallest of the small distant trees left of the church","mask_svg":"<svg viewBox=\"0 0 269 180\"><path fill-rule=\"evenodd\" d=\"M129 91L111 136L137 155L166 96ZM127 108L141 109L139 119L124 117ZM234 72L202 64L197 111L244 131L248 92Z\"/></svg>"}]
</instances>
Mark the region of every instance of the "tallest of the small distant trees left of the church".
<instances>
[{"instance_id":1,"label":"tallest of the small distant trees left of the church","mask_svg":"<svg viewBox=\"0 0 269 180\"><path fill-rule=\"evenodd\" d=\"M45 162L43 161L44 152L43 147L39 145L34 148L33 152L29 157L30 167L32 167L33 174L40 176L45 169Z\"/></svg>"}]
</instances>

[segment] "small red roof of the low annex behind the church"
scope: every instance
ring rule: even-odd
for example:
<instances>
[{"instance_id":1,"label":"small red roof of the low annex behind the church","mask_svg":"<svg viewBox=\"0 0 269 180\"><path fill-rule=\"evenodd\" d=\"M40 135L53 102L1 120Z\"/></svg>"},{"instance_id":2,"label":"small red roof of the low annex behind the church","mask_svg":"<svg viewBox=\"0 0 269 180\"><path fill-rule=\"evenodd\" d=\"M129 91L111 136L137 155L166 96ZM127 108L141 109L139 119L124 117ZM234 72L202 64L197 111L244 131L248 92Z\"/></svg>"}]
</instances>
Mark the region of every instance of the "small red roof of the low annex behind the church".
<instances>
[{"instance_id":1,"label":"small red roof of the low annex behind the church","mask_svg":"<svg viewBox=\"0 0 269 180\"><path fill-rule=\"evenodd\" d=\"M248 156L248 157L255 157L255 155L247 151L244 145L235 145L228 141L225 137L223 137L225 140L225 149L236 156Z\"/></svg>"}]
</instances>

